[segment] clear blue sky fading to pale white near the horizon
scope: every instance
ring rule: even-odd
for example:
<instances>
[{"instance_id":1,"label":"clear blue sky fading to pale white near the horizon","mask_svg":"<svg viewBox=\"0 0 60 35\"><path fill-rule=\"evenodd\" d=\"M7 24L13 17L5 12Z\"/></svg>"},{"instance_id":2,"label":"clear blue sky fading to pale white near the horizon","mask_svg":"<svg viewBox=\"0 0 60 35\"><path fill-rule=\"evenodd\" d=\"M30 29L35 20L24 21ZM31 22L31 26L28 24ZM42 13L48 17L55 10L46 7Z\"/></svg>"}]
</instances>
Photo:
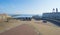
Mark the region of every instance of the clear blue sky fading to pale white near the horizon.
<instances>
[{"instance_id":1,"label":"clear blue sky fading to pale white near the horizon","mask_svg":"<svg viewBox=\"0 0 60 35\"><path fill-rule=\"evenodd\" d=\"M60 11L60 0L0 0L0 13L8 14L42 14Z\"/></svg>"}]
</instances>

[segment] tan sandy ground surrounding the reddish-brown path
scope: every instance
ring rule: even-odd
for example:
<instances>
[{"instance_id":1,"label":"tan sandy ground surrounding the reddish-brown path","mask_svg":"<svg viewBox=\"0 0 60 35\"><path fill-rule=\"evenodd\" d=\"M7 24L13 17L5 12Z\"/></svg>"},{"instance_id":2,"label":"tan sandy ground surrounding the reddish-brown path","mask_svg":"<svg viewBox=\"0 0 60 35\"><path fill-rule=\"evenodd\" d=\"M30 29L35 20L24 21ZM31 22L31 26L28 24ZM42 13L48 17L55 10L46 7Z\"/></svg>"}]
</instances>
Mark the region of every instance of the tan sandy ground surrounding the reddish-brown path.
<instances>
[{"instance_id":1,"label":"tan sandy ground surrounding the reddish-brown path","mask_svg":"<svg viewBox=\"0 0 60 35\"><path fill-rule=\"evenodd\" d=\"M41 35L60 35L60 27L50 22L44 23L43 20L36 21L32 19L31 21L20 21L14 19L9 20L9 22L2 22L0 24L2 24L2 26L0 26L0 34L20 25L26 24L33 27L35 31L40 33Z\"/></svg>"}]
</instances>

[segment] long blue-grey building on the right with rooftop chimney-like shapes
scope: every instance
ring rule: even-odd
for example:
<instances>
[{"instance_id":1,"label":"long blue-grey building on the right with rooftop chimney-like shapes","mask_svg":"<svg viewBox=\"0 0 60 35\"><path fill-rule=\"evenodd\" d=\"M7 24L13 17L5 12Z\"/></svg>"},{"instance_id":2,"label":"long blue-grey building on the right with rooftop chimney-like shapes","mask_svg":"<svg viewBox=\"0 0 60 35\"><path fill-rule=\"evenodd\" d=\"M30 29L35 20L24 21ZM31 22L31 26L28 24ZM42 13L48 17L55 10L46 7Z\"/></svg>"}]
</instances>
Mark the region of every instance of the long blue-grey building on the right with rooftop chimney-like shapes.
<instances>
[{"instance_id":1,"label":"long blue-grey building on the right with rooftop chimney-like shapes","mask_svg":"<svg viewBox=\"0 0 60 35\"><path fill-rule=\"evenodd\" d=\"M55 10L55 9L53 9L53 11L54 11L54 10ZM60 12L58 12L58 9L56 8L56 12L43 13L42 18L60 19Z\"/></svg>"}]
</instances>

